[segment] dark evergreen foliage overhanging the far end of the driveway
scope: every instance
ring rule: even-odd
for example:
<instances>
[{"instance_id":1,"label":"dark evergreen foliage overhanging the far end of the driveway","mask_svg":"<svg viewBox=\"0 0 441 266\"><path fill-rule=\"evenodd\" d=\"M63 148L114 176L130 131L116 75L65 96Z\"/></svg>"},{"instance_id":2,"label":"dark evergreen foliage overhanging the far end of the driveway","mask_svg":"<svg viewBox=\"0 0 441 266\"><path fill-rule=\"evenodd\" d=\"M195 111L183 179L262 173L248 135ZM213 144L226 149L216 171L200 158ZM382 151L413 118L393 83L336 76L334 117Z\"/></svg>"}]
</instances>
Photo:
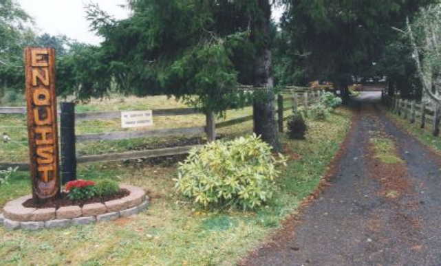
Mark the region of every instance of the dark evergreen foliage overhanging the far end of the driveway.
<instances>
[{"instance_id":1,"label":"dark evergreen foliage overhanging the far end of the driveway","mask_svg":"<svg viewBox=\"0 0 441 266\"><path fill-rule=\"evenodd\" d=\"M332 80L347 95L354 78L382 76L378 62L389 40L398 38L392 27L405 25L431 0L299 0L291 1L282 28L295 49L309 54L308 76Z\"/></svg>"}]
</instances>

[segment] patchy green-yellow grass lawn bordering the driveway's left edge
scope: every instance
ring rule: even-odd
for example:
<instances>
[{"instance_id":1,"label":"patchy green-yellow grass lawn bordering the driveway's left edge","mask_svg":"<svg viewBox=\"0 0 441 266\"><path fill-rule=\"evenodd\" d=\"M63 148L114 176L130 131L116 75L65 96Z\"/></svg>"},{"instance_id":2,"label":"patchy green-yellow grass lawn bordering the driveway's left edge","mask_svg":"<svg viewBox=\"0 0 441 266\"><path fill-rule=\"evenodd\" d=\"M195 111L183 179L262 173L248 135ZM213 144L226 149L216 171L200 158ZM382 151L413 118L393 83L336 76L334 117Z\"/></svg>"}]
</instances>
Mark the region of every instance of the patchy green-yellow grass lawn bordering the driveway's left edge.
<instances>
[{"instance_id":1,"label":"patchy green-yellow grass lawn bordering the driveway's left edge","mask_svg":"<svg viewBox=\"0 0 441 266\"><path fill-rule=\"evenodd\" d=\"M239 110L229 115L246 112ZM237 259L268 239L316 188L349 130L351 117L350 111L340 108L326 121L309 121L306 140L292 141L282 135L283 144L291 154L296 154L296 159L290 159L277 180L279 191L275 198L256 212L207 211L193 206L173 189L175 164L81 165L78 178L111 178L144 188L151 197L149 209L127 219L59 230L10 232L0 228L0 265L234 265ZM7 123L1 120L0 124L18 124L20 119L14 119L17 121L11 118ZM252 122L246 122L220 133L234 137L251 133L251 129ZM136 142L120 148L133 143ZM114 148L114 144L105 146L108 148ZM82 147L80 151L85 149ZM14 151L0 154L12 155ZM0 208L10 199L29 193L28 173L14 174L10 184L0 187Z\"/></svg>"}]
</instances>

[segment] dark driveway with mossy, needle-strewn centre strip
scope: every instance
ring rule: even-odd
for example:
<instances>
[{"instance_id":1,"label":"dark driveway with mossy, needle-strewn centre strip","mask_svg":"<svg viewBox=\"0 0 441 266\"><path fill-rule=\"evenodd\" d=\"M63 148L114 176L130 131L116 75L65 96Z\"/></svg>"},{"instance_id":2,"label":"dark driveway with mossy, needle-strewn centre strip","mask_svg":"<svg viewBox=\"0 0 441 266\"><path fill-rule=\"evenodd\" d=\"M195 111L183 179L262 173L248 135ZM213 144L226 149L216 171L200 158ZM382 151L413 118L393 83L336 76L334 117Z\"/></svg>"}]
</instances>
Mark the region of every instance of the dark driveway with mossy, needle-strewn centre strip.
<instances>
[{"instance_id":1,"label":"dark driveway with mossy, needle-strewn centre strip","mask_svg":"<svg viewBox=\"0 0 441 266\"><path fill-rule=\"evenodd\" d=\"M263 245L244 265L441 264L441 159L377 101L372 93L354 100L358 119L332 185L286 240Z\"/></svg>"}]
</instances>

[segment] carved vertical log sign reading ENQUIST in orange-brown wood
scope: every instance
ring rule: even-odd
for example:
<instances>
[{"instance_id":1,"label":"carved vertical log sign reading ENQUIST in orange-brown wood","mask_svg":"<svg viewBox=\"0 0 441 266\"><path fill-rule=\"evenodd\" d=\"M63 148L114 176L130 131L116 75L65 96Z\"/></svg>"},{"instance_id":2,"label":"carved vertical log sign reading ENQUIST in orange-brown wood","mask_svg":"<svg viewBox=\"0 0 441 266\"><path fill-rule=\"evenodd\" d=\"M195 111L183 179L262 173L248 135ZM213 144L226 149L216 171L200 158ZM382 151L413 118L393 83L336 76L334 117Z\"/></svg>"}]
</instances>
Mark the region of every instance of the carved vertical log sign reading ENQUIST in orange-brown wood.
<instances>
[{"instance_id":1,"label":"carved vertical log sign reading ENQUIST in orange-brown wood","mask_svg":"<svg viewBox=\"0 0 441 266\"><path fill-rule=\"evenodd\" d=\"M30 171L34 201L58 197L60 190L54 65L54 49L25 49Z\"/></svg>"}]
</instances>

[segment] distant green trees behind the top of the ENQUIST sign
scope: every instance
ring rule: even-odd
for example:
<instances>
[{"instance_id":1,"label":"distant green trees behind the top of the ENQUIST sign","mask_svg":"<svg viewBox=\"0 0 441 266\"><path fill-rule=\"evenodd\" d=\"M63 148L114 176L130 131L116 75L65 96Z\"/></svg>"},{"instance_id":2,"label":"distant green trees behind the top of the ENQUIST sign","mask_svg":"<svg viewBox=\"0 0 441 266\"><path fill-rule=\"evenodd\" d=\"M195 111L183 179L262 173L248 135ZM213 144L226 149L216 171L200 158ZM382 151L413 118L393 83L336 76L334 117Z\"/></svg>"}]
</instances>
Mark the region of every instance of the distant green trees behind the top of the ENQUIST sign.
<instances>
[{"instance_id":1,"label":"distant green trees behind the top of the ENQUIST sign","mask_svg":"<svg viewBox=\"0 0 441 266\"><path fill-rule=\"evenodd\" d=\"M96 57L92 49L66 36L37 35L33 21L15 0L0 0L0 99L14 102L23 98L23 49L26 46L54 47L57 55L57 87L65 94L83 88L80 80L90 75ZM96 79L96 78L95 78ZM89 87L89 86L86 86Z\"/></svg>"}]
</instances>

